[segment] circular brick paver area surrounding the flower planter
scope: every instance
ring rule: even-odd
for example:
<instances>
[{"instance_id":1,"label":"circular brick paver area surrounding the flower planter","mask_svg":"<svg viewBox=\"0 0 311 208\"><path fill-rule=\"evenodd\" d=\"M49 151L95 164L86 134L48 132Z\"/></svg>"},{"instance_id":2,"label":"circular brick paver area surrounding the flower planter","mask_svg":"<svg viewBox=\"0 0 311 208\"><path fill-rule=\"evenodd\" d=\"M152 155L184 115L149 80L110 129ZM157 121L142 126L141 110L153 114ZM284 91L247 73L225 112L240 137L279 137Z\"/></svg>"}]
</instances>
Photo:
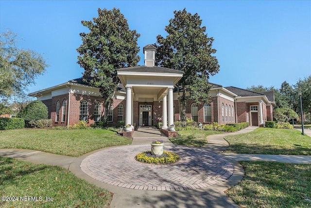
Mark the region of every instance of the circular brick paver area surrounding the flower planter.
<instances>
[{"instance_id":1,"label":"circular brick paver area surrounding the flower planter","mask_svg":"<svg viewBox=\"0 0 311 208\"><path fill-rule=\"evenodd\" d=\"M177 153L181 160L169 165L141 163L139 152L150 144L104 149L86 157L81 170L105 183L137 190L175 191L200 189L225 181L233 165L205 148L165 145L164 151Z\"/></svg>"}]
</instances>

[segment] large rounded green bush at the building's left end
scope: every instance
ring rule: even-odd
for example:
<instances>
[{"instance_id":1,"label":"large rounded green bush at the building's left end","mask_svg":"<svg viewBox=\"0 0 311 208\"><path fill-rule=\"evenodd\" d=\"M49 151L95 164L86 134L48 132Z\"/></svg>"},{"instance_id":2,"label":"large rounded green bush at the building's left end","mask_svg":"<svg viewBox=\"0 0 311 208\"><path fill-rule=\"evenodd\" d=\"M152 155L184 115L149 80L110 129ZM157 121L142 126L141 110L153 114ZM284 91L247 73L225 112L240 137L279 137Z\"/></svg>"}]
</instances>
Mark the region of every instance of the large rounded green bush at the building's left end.
<instances>
[{"instance_id":1,"label":"large rounded green bush at the building's left end","mask_svg":"<svg viewBox=\"0 0 311 208\"><path fill-rule=\"evenodd\" d=\"M35 100L29 103L21 112L20 117L25 120L25 124L38 119L48 119L48 107L40 100Z\"/></svg>"}]
</instances>

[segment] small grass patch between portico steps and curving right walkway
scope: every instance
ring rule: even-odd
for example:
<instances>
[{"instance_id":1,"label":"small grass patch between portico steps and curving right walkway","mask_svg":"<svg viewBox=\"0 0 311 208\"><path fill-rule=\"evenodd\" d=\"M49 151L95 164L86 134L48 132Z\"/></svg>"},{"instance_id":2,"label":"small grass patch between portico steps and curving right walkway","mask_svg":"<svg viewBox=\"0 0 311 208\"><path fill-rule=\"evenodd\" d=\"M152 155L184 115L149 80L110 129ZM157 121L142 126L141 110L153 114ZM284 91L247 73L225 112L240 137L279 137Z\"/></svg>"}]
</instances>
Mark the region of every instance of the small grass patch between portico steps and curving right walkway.
<instances>
[{"instance_id":1,"label":"small grass patch between portico steps and curving right walkway","mask_svg":"<svg viewBox=\"0 0 311 208\"><path fill-rule=\"evenodd\" d=\"M207 144L206 137L212 134L221 134L222 131L182 130L178 137L171 138L173 144L201 147Z\"/></svg>"}]
</instances>

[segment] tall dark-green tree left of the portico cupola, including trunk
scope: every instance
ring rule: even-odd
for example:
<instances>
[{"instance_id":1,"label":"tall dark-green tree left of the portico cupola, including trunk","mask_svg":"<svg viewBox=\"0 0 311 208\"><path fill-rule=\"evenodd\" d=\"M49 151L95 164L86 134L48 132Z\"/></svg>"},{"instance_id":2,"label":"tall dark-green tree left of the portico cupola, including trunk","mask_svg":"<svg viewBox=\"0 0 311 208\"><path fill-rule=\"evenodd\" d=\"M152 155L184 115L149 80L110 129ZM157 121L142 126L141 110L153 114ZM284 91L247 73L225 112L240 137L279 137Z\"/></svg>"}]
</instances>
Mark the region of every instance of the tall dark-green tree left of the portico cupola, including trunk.
<instances>
[{"instance_id":1,"label":"tall dark-green tree left of the portico cupola, including trunk","mask_svg":"<svg viewBox=\"0 0 311 208\"><path fill-rule=\"evenodd\" d=\"M81 21L89 32L81 32L82 44L77 51L78 64L84 68L83 78L89 84L100 88L106 100L104 124L113 95L120 83L117 69L136 66L140 57L137 40L140 34L130 30L126 18L119 9L98 9L93 21ZM91 78L91 79L89 79Z\"/></svg>"}]
</instances>

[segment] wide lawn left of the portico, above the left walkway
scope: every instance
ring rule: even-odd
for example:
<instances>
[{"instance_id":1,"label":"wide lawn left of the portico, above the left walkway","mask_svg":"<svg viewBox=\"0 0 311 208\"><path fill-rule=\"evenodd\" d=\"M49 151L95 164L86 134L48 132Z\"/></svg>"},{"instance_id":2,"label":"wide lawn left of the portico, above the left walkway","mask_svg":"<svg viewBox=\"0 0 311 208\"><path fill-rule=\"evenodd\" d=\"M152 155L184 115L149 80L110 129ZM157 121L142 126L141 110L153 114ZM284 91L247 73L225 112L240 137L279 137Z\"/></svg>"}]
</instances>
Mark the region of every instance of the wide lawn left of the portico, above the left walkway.
<instances>
[{"instance_id":1,"label":"wide lawn left of the portico, above the left walkway","mask_svg":"<svg viewBox=\"0 0 311 208\"><path fill-rule=\"evenodd\" d=\"M96 149L131 144L130 138L104 129L13 129L0 131L0 148L33 149L79 157Z\"/></svg>"}]
</instances>

